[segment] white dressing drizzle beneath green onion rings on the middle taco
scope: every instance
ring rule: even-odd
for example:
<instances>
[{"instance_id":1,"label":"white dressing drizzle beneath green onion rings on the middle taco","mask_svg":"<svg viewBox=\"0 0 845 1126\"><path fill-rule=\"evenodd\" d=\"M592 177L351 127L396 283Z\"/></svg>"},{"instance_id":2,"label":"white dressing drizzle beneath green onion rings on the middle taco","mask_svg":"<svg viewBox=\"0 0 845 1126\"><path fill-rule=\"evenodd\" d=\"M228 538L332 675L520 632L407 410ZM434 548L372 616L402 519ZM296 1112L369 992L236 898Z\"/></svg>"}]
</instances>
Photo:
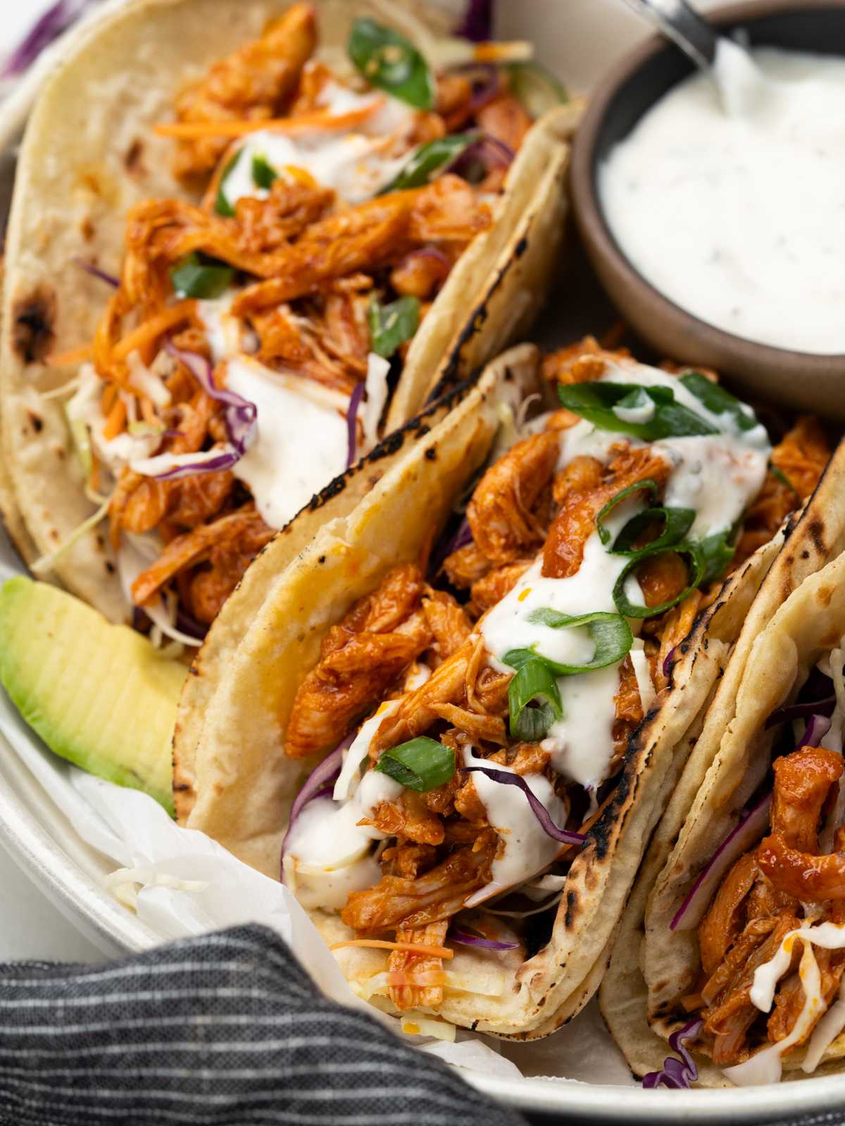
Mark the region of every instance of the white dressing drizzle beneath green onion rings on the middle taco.
<instances>
[{"instance_id":1,"label":"white dressing drizzle beneath green onion rings on the middle taco","mask_svg":"<svg viewBox=\"0 0 845 1126\"><path fill-rule=\"evenodd\" d=\"M687 538L701 540L732 527L765 480L771 447L764 427L740 431L729 413L717 415L707 410L674 376L633 361L608 364L602 381L671 387L676 402L719 428L718 435L664 438L650 446L672 465L663 504L695 511ZM630 441L635 447L646 445L624 434L600 430L582 419L561 431L557 468L564 468L574 457L583 455L606 465L613 457L611 447L620 441ZM644 494L635 493L611 510L604 520L611 545L627 521L645 507ZM554 629L527 619L541 608L572 617L594 611L615 614L613 588L628 562L627 556L610 554L597 531L584 545L584 558L574 575L543 578L542 557L538 557L514 589L485 617L480 629L487 652L497 665L513 649L534 649L559 664L587 663L595 653L595 644L586 626ZM633 575L626 581L626 593L631 602L642 605L642 592ZM635 634L639 633L639 622L631 623ZM638 683L645 686L648 670L641 644L637 647L632 656L635 673ZM590 792L597 789L608 777L614 754L613 698L619 690L620 664L557 678L564 717L549 727L541 745L551 751L555 770ZM654 691L649 694L645 689L640 696L647 709Z\"/></svg>"}]
</instances>

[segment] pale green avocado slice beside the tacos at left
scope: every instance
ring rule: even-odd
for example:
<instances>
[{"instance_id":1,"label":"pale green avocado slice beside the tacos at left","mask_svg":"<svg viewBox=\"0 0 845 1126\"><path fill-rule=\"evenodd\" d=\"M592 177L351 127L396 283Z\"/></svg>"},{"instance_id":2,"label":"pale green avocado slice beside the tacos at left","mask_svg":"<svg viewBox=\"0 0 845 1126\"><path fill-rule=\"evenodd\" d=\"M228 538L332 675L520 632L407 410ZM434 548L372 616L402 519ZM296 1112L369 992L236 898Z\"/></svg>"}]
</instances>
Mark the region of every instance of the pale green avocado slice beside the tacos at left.
<instances>
[{"instance_id":1,"label":"pale green avocado slice beside the tacos at left","mask_svg":"<svg viewBox=\"0 0 845 1126\"><path fill-rule=\"evenodd\" d=\"M0 681L56 754L173 813L171 740L187 669L46 582L0 588Z\"/></svg>"}]
</instances>

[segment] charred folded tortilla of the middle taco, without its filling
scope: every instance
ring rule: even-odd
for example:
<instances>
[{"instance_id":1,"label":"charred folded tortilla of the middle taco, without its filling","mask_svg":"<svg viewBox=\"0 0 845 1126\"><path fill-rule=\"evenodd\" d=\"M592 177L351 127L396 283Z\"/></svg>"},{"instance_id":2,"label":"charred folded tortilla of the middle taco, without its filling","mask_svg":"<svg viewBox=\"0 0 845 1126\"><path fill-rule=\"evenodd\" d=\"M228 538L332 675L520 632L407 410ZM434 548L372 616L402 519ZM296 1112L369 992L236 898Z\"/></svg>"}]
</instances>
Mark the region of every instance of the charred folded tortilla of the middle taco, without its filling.
<instances>
[{"instance_id":1,"label":"charred folded tortilla of the middle taco, without its filling","mask_svg":"<svg viewBox=\"0 0 845 1126\"><path fill-rule=\"evenodd\" d=\"M503 376L510 372L530 385L534 367L530 346L501 356L353 511L321 529L271 596L250 607L243 641L234 652L226 646L226 663L218 664L214 688L203 697L201 715L196 678L189 678L174 741L177 778L186 785L181 823L278 878L294 797L318 761L318 756L287 758L285 731L322 640L388 571L420 560L431 527L442 526L450 498L487 456ZM471 977L471 984L447 991L441 1018L531 1039L559 1028L596 991L644 851L779 546L780 540L766 545L747 560L678 645L669 686L631 738L613 796L569 868L550 940L527 960L458 948L448 968ZM228 615L235 615L241 593L230 600ZM209 649L207 664L213 663ZM320 909L311 913L329 944L351 937L339 917ZM387 968L387 953L370 947L347 947L336 957L357 989Z\"/></svg>"}]
</instances>

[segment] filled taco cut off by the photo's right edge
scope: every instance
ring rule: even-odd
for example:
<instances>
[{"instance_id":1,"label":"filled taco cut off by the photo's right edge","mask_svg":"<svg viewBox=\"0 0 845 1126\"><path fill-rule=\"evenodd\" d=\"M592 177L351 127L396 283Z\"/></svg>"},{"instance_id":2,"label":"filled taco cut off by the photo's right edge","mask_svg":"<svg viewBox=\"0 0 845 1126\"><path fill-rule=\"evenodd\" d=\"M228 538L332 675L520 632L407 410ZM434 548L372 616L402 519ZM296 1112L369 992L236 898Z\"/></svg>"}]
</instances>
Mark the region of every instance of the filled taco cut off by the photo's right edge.
<instances>
[{"instance_id":1,"label":"filled taco cut off by the photo's right edge","mask_svg":"<svg viewBox=\"0 0 845 1126\"><path fill-rule=\"evenodd\" d=\"M830 1046L834 1035L815 1057L801 1048L808 1038L818 1046L826 1035L830 1020L822 1015L835 992L829 977L826 995L813 1001L812 1019L800 1015L800 1004L795 1008L806 999L802 974L813 972L812 954L803 969L799 965L802 948L810 950L811 944L795 944L795 964L775 974L773 998L763 1009L752 1002L752 989L757 967L771 963L768 947L779 946L779 928L795 915L804 927L813 924L807 920L826 918L808 888L803 906L785 896L783 872L773 869L766 841L759 842L770 829L782 835L790 810L795 814L790 785L809 797L813 784L820 785L819 769L835 766L829 750L815 749L819 741L836 753L840 748L836 659L827 654L840 647L834 634L842 614L844 473L840 445L804 511L786 529L756 598L744 608L745 624L725 676L637 877L601 990L605 1021L637 1074L662 1074L665 1039L675 1037L676 1046L682 1034L687 1051L705 1057L698 1081L707 1087L774 1082L781 1065L810 1072L820 1060L842 1054ZM816 664L833 670L833 682ZM821 704L820 695L827 697ZM827 729L833 734L822 739ZM836 786L828 783L828 789ZM835 795L824 811L822 804L815 813L804 810L799 843L807 872L815 857L834 850L842 821ZM835 908L824 904L828 915ZM820 957L830 960L838 983L836 954ZM773 1042L776 1051L771 1051Z\"/></svg>"}]
</instances>

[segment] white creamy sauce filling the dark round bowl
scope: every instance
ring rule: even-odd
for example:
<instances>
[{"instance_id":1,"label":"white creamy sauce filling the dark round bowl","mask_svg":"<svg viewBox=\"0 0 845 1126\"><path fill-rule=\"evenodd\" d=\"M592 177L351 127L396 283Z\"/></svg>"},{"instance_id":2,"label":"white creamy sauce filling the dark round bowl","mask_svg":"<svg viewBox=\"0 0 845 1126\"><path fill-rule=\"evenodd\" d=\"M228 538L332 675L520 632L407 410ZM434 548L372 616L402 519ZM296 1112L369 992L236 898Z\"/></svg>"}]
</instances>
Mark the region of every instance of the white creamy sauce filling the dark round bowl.
<instances>
[{"instance_id":1,"label":"white creamy sauce filling the dark round bowl","mask_svg":"<svg viewBox=\"0 0 845 1126\"><path fill-rule=\"evenodd\" d=\"M754 65L756 63L756 65ZM599 170L611 232L671 301L748 340L845 352L845 60L719 41Z\"/></svg>"}]
</instances>

